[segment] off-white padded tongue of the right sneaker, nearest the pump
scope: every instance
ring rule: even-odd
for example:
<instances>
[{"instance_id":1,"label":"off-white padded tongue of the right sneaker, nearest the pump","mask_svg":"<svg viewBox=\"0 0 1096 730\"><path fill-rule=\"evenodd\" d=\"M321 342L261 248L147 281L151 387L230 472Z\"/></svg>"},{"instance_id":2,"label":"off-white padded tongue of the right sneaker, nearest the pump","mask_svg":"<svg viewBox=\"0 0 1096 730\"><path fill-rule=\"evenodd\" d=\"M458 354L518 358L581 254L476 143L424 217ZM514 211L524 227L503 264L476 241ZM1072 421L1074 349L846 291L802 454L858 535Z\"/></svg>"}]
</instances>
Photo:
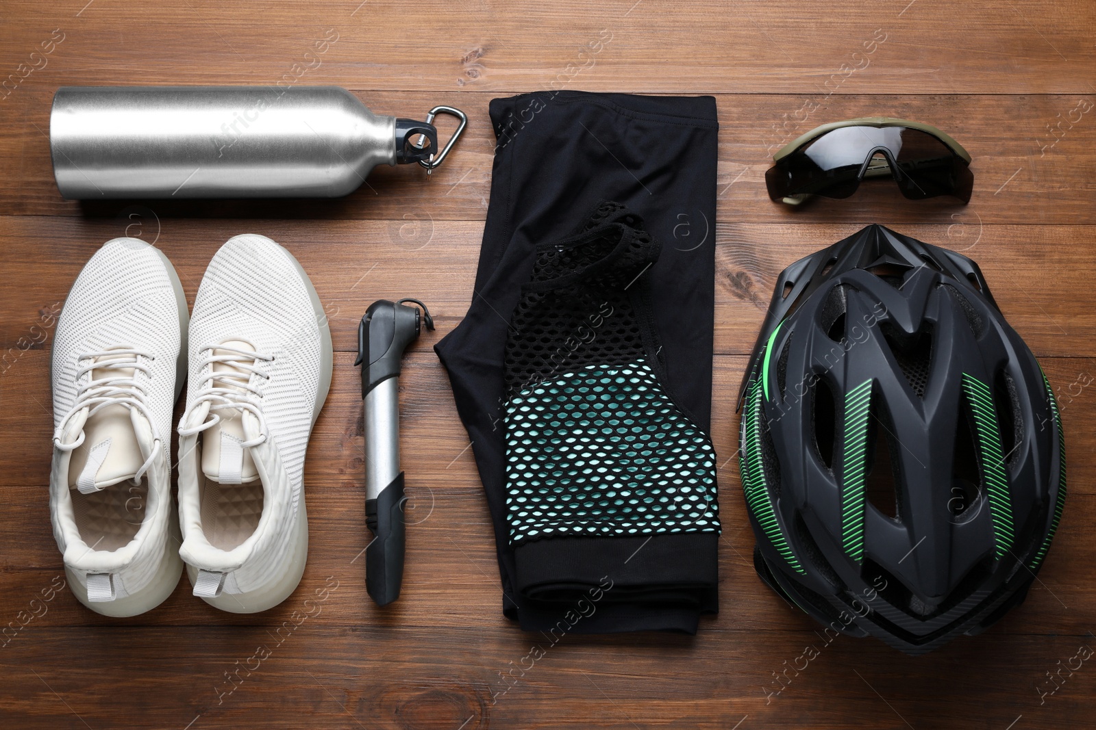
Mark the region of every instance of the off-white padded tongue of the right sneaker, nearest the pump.
<instances>
[{"instance_id":1,"label":"off-white padded tongue of the right sneaker, nearest the pump","mask_svg":"<svg viewBox=\"0 0 1096 730\"><path fill-rule=\"evenodd\" d=\"M250 343L241 340L227 340L221 344L226 347L242 350L254 349ZM232 356L236 354L214 348L213 355ZM237 368L228 362L215 362L212 367L214 372L238 372L250 375L247 370ZM238 382L240 382L240 379L236 378L218 379L215 385L217 387L227 387L240 393L247 393L244 389L236 385ZM207 479L219 484L247 484L254 482L259 478L259 471L255 468L255 462L251 457L251 449L242 445L243 441L249 441L258 436L256 433L249 436L244 430L244 418L248 420L247 430L249 431L253 430L251 426L254 419L250 415L246 417L243 414L247 412L239 408L222 408L214 413L220 416L220 421L215 426L210 426L202 433L203 474L205 474Z\"/></svg>"}]
</instances>

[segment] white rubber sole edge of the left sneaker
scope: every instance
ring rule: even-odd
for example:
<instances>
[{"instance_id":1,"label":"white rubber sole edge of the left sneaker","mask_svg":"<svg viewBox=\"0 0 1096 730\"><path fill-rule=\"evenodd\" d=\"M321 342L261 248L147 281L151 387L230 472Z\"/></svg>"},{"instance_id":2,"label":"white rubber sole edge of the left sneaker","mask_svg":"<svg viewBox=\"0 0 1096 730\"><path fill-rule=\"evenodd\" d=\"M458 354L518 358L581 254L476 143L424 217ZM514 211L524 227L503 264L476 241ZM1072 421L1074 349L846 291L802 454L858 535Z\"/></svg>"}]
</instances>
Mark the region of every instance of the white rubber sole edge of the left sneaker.
<instances>
[{"instance_id":1,"label":"white rubber sole edge of the left sneaker","mask_svg":"<svg viewBox=\"0 0 1096 730\"><path fill-rule=\"evenodd\" d=\"M113 239L112 241L116 240L118 239ZM140 239L133 240L140 241ZM111 241L107 241L107 243L111 243ZM141 241L141 243L145 242ZM160 257L161 262L163 262L163 268L168 273L168 279L171 281L171 288L175 293L175 305L179 311L180 340L179 356L175 358L175 397L172 401L172 404L174 404L179 401L179 395L183 392L183 385L186 381L186 337L191 321L190 306L186 304L186 294L183 292L183 285L179 280L179 274L175 271L175 267L171 265L171 260L168 259L162 251L152 244L145 243L145 245L155 251L156 255ZM66 303L68 303L68 298L66 298ZM50 357L50 382L53 382L54 374L53 364L54 360ZM169 457L171 454L171 441L173 440L174 439L169 438L167 440L168 445L164 448ZM168 471L168 478L170 480L170 470ZM168 540L164 541L163 556L160 558L160 564L156 568L156 577L152 579L152 582L124 599L102 602L89 601L87 587L81 584L76 575L68 567L66 567L65 576L68 579L69 588L72 590L72 594L76 595L80 603L100 615L121 618L125 616L137 616L147 611L151 611L156 606L163 603L168 596L174 592L175 587L179 584L179 579L183 575L183 559L179 557L179 545L181 545L183 541L182 535L179 532L179 515L175 510L175 499L171 495L170 486L167 503L171 510L171 513L168 515Z\"/></svg>"}]
</instances>

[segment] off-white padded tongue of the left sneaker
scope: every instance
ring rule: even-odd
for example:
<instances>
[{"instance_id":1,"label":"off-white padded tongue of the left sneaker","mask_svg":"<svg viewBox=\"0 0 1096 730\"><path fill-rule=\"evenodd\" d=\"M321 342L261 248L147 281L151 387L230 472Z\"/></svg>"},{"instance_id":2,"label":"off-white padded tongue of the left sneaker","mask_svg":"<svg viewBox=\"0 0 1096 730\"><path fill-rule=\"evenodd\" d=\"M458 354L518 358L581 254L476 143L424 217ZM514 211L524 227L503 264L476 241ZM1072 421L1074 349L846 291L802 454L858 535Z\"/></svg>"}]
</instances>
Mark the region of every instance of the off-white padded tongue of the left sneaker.
<instances>
[{"instance_id":1,"label":"off-white padded tongue of the left sneaker","mask_svg":"<svg viewBox=\"0 0 1096 730\"><path fill-rule=\"evenodd\" d=\"M132 371L94 371L92 378L132 376ZM152 450L148 419L128 406L107 405L92 415L85 408L70 430L83 430L83 443L69 461L69 488L81 494L100 491L124 479L133 479Z\"/></svg>"}]
</instances>

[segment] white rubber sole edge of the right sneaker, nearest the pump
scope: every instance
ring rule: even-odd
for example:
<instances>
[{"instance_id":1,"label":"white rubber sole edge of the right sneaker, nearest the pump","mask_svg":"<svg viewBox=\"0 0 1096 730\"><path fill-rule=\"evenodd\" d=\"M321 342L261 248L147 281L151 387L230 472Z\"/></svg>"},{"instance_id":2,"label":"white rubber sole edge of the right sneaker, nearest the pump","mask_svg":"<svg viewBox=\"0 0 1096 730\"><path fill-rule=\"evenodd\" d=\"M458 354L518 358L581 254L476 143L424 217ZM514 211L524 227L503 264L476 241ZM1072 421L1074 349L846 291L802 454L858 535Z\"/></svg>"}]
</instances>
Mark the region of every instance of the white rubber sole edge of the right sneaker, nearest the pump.
<instances>
[{"instance_id":1,"label":"white rubber sole edge of the right sneaker, nearest the pump","mask_svg":"<svg viewBox=\"0 0 1096 730\"><path fill-rule=\"evenodd\" d=\"M316 389L316 401L312 404L312 421L308 428L308 436L310 440L312 436L312 427L316 426L316 419L320 417L320 410L323 408L323 404L328 399L328 392L331 390L331 375L334 362L334 350L331 345L331 328L328 326L328 315L327 312L323 311L323 304L320 302L320 296L316 292L316 287L312 286L312 280L308 277L308 274L305 273L300 262L298 262L296 256L289 253L287 248L277 242L271 241L270 239L266 240L285 252L285 255L289 257L289 262L297 269L297 274L300 275L301 280L305 282L305 289L308 291L308 298L312 303L312 312L316 314L316 322L320 329L320 383L319 387ZM297 586L300 584L300 579L305 575L305 564L308 561L308 510L305 505L304 483L301 483L298 509L300 510L300 514L294 525L293 555L290 556L289 565L286 566L282 578L258 591L248 591L247 593L221 593L220 595L214 598L203 596L202 600L215 609L220 609L221 611L227 611L229 613L259 613L261 611L273 609L289 598L289 595L297 590ZM191 586L193 586L198 579L198 569L192 565L187 565L186 576L191 580Z\"/></svg>"}]
</instances>

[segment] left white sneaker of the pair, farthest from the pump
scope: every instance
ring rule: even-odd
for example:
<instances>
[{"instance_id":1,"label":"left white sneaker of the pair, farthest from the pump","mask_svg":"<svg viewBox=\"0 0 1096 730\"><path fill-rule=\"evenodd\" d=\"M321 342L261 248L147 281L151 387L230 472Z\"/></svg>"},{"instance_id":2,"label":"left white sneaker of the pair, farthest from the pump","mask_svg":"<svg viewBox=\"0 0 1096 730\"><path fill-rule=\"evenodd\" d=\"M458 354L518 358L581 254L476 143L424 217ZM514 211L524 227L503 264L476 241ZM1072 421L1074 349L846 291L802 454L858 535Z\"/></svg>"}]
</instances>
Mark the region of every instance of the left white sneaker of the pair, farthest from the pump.
<instances>
[{"instance_id":1,"label":"left white sneaker of the pair, farthest from the pump","mask_svg":"<svg viewBox=\"0 0 1096 730\"><path fill-rule=\"evenodd\" d=\"M114 239L80 271L57 322L49 512L72 592L107 616L157 606L182 572L168 437L186 320L168 258Z\"/></svg>"}]
</instances>

